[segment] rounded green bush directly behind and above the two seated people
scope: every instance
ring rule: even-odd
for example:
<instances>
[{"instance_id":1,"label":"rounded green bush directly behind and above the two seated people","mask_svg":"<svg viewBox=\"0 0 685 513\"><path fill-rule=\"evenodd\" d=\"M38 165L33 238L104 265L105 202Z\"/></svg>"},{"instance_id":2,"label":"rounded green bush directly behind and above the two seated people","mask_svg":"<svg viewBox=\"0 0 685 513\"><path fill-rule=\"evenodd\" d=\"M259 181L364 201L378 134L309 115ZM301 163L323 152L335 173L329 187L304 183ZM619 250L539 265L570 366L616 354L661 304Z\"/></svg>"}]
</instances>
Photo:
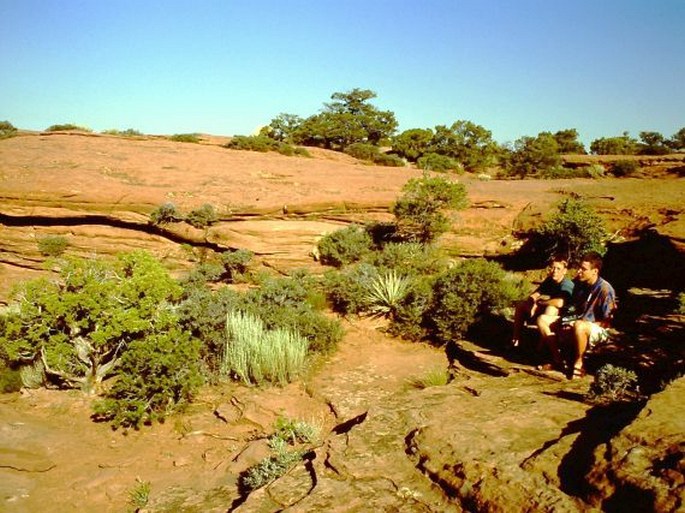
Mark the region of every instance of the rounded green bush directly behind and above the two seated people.
<instances>
[{"instance_id":1,"label":"rounded green bush directly behind and above the two seated people","mask_svg":"<svg viewBox=\"0 0 685 513\"><path fill-rule=\"evenodd\" d=\"M604 222L581 200L567 198L557 211L533 232L534 245L547 260L554 254L567 255L571 263L588 251L605 252L608 233Z\"/></svg>"}]
</instances>

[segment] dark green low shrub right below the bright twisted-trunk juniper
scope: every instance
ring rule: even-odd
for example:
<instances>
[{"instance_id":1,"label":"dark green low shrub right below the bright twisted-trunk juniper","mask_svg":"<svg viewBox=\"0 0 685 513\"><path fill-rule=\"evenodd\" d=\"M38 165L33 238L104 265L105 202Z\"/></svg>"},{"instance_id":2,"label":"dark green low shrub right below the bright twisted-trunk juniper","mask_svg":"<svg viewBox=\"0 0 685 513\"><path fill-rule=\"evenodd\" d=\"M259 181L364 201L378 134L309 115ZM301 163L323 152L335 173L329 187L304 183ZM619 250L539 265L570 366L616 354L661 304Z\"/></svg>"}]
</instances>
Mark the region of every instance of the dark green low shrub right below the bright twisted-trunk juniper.
<instances>
[{"instance_id":1,"label":"dark green low shrub right below the bright twisted-trunk juniper","mask_svg":"<svg viewBox=\"0 0 685 513\"><path fill-rule=\"evenodd\" d=\"M177 329L135 340L117 374L105 398L93 406L95 419L136 429L162 421L190 403L204 382L200 343Z\"/></svg>"}]
</instances>

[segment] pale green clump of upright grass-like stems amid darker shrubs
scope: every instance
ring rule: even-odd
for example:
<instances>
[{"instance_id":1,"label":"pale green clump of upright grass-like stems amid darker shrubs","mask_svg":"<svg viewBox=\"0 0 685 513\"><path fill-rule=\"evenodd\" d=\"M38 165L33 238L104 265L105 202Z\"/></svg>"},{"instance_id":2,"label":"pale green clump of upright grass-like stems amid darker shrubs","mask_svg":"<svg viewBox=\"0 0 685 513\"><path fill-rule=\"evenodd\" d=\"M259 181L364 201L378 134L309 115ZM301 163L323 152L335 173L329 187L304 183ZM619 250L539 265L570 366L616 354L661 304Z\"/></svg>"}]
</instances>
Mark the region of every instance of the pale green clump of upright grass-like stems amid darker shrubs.
<instances>
[{"instance_id":1,"label":"pale green clump of upright grass-like stems amid darker shrubs","mask_svg":"<svg viewBox=\"0 0 685 513\"><path fill-rule=\"evenodd\" d=\"M269 330L254 315L230 312L221 374L246 384L285 385L302 372L307 347L307 339L294 331Z\"/></svg>"}]
</instances>

